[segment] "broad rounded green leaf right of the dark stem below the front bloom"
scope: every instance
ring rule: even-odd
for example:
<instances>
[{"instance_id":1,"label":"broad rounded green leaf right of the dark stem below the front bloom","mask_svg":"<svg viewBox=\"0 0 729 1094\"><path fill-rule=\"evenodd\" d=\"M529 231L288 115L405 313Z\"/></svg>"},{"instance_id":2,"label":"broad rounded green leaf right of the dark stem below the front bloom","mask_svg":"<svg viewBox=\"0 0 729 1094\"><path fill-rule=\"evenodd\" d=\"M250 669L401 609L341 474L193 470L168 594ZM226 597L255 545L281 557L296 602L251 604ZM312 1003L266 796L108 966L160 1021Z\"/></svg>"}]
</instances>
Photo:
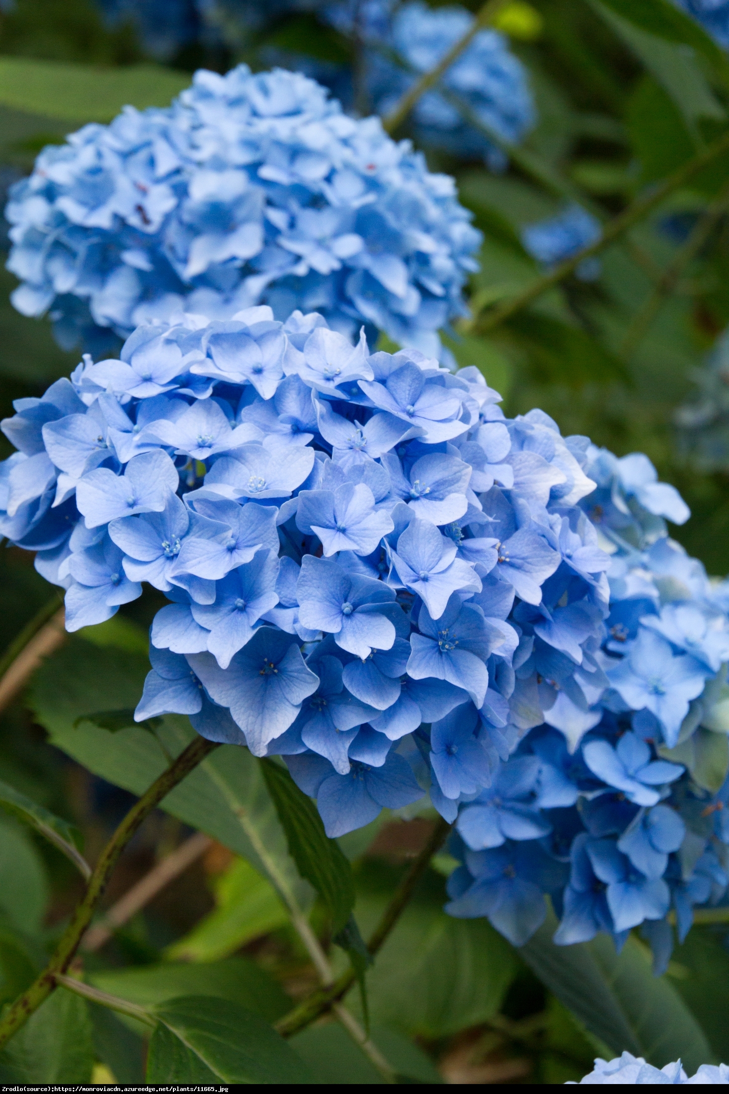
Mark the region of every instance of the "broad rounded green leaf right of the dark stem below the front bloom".
<instances>
[{"instance_id":1,"label":"broad rounded green leaf right of the dark stem below the front bloom","mask_svg":"<svg viewBox=\"0 0 729 1094\"><path fill-rule=\"evenodd\" d=\"M397 877L381 862L358 872L357 919L365 936ZM443 878L432 874L424 884L368 970L367 994L373 1027L438 1038L493 1017L519 963L485 919L454 919L443 911Z\"/></svg>"}]
</instances>

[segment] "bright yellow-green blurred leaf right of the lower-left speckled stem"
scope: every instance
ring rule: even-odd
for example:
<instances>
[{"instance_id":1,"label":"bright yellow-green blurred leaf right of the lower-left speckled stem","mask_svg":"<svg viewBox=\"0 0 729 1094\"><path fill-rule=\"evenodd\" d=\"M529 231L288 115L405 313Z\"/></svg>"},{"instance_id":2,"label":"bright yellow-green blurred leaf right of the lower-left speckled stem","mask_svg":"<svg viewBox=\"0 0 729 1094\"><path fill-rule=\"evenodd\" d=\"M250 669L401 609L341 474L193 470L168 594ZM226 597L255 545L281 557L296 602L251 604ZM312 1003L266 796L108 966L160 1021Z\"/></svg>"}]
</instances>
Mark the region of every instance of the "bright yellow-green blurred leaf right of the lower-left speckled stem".
<instances>
[{"instance_id":1,"label":"bright yellow-green blurred leaf right of the lower-left speckled stem","mask_svg":"<svg viewBox=\"0 0 729 1094\"><path fill-rule=\"evenodd\" d=\"M273 886L245 859L213 880L216 907L184 938L167 946L171 961L215 961L289 921Z\"/></svg>"}]
</instances>

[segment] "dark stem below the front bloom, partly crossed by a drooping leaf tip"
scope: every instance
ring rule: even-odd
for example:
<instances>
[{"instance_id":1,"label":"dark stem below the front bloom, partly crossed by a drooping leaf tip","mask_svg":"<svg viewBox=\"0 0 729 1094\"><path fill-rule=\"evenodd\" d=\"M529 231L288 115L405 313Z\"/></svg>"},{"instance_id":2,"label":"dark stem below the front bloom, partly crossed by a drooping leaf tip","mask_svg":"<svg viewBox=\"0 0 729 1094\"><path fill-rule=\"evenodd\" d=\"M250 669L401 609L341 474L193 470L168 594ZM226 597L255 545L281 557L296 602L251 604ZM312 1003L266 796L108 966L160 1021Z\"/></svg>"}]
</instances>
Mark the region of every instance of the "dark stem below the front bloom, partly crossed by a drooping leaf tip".
<instances>
[{"instance_id":1,"label":"dark stem below the front bloom, partly crossed by a drooping leaf tip","mask_svg":"<svg viewBox=\"0 0 729 1094\"><path fill-rule=\"evenodd\" d=\"M438 819L427 843L396 888L390 903L383 913L383 918L367 942L367 950L373 957L381 948L390 931L402 915L413 894L413 889L427 869L433 856L443 847L451 827L452 825L449 825L446 821ZM290 1011L289 1014L284 1015L277 1023L277 1029L281 1036L291 1037L293 1034L305 1029L311 1022L315 1022L321 1014L330 1010L333 1003L339 1002L350 990L355 979L356 975L354 970L349 968L333 984L313 992L308 999L305 999L303 1003L299 1003L298 1006L295 1006L293 1011Z\"/></svg>"}]
</instances>

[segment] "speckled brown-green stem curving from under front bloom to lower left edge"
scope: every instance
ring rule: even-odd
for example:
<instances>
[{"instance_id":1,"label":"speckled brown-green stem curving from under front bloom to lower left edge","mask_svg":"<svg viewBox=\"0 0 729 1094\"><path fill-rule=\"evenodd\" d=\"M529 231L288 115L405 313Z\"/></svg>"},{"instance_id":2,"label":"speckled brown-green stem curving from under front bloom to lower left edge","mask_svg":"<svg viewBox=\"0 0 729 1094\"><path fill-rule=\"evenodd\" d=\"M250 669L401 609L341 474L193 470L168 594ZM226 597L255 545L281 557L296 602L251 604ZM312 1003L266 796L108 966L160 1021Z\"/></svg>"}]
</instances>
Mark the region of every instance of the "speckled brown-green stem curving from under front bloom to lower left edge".
<instances>
[{"instance_id":1,"label":"speckled brown-green stem curving from under front bloom to lower left edge","mask_svg":"<svg viewBox=\"0 0 729 1094\"><path fill-rule=\"evenodd\" d=\"M141 823L156 808L162 799L166 798L169 791L174 790L204 759L208 753L217 747L219 745L213 741L205 741L204 737L196 737L185 752L180 753L174 764L166 771L163 771L158 779L155 779L149 790L142 794L136 805L129 811L102 851L89 881L84 897L77 906L71 922L66 928L48 965L35 984L32 984L27 991L24 991L15 1000L5 1013L2 1022L0 1022L0 1048L17 1033L21 1026L27 1022L31 1014L37 1011L38 1006L55 990L57 985L56 977L59 974L63 975L68 969L79 948L81 939L92 920L94 911L104 895L117 860Z\"/></svg>"}]
</instances>

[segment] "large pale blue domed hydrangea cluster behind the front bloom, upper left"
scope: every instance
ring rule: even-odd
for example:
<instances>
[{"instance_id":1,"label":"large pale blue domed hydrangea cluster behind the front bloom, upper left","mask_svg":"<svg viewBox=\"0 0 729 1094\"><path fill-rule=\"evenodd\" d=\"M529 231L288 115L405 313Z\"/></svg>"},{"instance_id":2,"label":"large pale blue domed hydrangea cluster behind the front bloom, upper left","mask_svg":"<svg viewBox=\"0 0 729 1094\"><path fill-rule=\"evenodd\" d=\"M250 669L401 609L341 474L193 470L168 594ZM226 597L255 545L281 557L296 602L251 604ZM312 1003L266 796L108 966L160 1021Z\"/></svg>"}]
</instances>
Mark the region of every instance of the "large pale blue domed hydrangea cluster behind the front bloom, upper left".
<instances>
[{"instance_id":1,"label":"large pale blue domed hydrangea cluster behind the front bloom, upper left","mask_svg":"<svg viewBox=\"0 0 729 1094\"><path fill-rule=\"evenodd\" d=\"M11 195L13 304L92 349L183 306L230 318L266 303L433 357L480 243L454 179L379 119L244 65L197 72L168 109L84 126Z\"/></svg>"}]
</instances>

